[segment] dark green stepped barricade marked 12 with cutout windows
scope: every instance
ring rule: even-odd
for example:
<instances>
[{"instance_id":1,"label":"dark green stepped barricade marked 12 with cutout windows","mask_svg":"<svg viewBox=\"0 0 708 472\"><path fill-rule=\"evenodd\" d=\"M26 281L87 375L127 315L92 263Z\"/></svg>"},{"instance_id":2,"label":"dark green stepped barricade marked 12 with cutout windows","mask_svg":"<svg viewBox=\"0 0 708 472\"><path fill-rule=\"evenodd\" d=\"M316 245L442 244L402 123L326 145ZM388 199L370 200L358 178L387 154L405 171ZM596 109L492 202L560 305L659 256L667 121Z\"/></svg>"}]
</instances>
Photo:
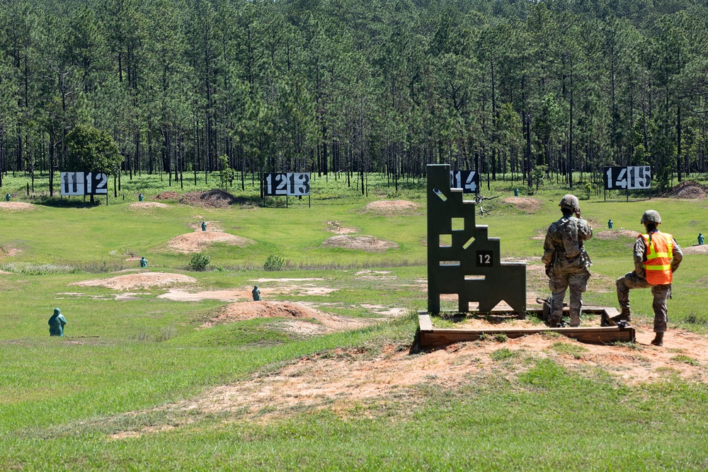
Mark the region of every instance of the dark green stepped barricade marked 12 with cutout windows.
<instances>
[{"instance_id":1,"label":"dark green stepped barricade marked 12 with cutout windows","mask_svg":"<svg viewBox=\"0 0 708 472\"><path fill-rule=\"evenodd\" d=\"M489 313L501 301L525 313L526 264L501 262L499 238L476 225L474 202L450 180L449 165L428 166L428 312L440 313L441 294L457 294L460 313L471 304Z\"/></svg>"}]
</instances>

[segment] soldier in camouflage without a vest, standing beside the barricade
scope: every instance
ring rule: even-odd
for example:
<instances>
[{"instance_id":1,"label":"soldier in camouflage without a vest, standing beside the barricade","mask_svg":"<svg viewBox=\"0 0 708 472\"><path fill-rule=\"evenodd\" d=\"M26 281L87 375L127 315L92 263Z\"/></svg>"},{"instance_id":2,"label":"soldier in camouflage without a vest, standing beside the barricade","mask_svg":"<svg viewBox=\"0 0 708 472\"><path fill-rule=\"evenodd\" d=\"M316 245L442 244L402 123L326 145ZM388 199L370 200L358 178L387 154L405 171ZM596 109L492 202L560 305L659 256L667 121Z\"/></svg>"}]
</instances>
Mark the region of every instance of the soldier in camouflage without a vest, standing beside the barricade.
<instances>
[{"instance_id":1,"label":"soldier in camouflage without a vest, standing beside the barricade","mask_svg":"<svg viewBox=\"0 0 708 472\"><path fill-rule=\"evenodd\" d=\"M563 299L570 287L571 327L574 328L580 326L582 293L588 288L588 267L592 265L583 241L593 237L593 229L580 217L580 202L575 195L565 195L558 206L563 217L548 227L543 243L542 262L546 265L548 286L553 294L549 322L552 328L559 326Z\"/></svg>"}]
</instances>

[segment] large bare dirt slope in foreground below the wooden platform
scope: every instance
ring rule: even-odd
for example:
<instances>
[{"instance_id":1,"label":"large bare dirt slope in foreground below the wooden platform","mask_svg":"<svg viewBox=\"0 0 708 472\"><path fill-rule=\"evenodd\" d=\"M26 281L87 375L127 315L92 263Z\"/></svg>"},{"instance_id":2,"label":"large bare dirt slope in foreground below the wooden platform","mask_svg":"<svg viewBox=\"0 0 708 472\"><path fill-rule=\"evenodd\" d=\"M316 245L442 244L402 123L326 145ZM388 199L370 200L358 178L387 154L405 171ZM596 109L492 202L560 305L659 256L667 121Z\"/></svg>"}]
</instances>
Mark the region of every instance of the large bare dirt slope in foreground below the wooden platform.
<instances>
[{"instance_id":1,"label":"large bare dirt slope in foreground below the wooden platform","mask_svg":"<svg viewBox=\"0 0 708 472\"><path fill-rule=\"evenodd\" d=\"M457 343L423 355L409 355L409 345L389 344L373 351L366 347L338 348L302 357L278 372L256 372L251 379L217 386L193 400L158 409L187 410L192 415L231 413L243 420L268 422L301 413L303 408L326 408L346 418L359 415L353 408L362 402L399 398L413 405L421 401L419 395L411 395L411 388L418 385L459 388L500 373L513 379L539 359L550 359L581 375L603 369L630 385L668 381L673 376L695 382L707 380L708 372L703 367L708 362L707 338L670 330L664 338L669 347L654 347L649 345L653 338L651 328L645 328L637 333L634 347L583 345L562 335L535 334L505 343ZM518 360L500 361L500 351L505 359ZM269 413L263 413L263 405L268 405ZM111 437L149 434L166 425L151 425Z\"/></svg>"}]
</instances>

